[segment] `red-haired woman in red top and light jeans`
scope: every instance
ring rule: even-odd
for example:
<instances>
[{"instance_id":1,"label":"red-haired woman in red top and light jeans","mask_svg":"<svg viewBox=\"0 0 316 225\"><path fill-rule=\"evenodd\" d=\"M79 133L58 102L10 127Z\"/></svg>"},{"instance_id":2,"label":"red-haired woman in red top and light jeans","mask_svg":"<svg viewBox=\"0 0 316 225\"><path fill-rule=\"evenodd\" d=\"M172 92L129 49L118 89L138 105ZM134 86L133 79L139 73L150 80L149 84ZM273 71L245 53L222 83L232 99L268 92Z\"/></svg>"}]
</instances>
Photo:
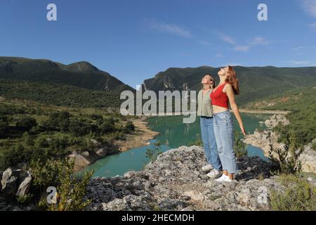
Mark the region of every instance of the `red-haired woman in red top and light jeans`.
<instances>
[{"instance_id":1,"label":"red-haired woman in red top and light jeans","mask_svg":"<svg viewBox=\"0 0 316 225\"><path fill-rule=\"evenodd\" d=\"M214 134L218 147L218 155L223 165L223 175L216 181L231 182L237 172L236 156L234 151L234 127L232 115L228 109L228 102L237 119L242 134L246 136L242 117L235 103L235 94L239 94L236 72L231 67L221 68L218 72L220 83L211 91L211 104L213 105Z\"/></svg>"}]
</instances>

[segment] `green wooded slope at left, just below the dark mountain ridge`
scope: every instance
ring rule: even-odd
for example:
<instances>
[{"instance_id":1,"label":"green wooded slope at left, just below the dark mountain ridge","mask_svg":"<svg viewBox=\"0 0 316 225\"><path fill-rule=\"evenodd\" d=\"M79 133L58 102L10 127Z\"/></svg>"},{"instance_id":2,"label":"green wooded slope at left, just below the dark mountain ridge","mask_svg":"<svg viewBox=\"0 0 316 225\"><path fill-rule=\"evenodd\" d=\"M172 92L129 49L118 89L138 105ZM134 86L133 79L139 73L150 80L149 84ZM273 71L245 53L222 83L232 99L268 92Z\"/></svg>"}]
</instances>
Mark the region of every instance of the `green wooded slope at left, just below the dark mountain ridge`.
<instances>
[{"instance_id":1,"label":"green wooded slope at left, just below the dark mountain ridge","mask_svg":"<svg viewBox=\"0 0 316 225\"><path fill-rule=\"evenodd\" d=\"M72 107L119 108L119 91L97 91L67 84L0 79L0 96Z\"/></svg>"}]
</instances>

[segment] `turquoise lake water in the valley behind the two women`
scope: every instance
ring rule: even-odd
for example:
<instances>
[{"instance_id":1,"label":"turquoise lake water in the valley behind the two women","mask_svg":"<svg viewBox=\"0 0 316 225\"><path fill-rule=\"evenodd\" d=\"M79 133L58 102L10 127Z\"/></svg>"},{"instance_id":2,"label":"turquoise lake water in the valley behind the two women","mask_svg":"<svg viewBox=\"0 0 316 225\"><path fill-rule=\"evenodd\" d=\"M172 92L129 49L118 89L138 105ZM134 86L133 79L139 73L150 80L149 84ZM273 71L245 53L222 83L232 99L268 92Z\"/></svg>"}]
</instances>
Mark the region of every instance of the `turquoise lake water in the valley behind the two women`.
<instances>
[{"instance_id":1,"label":"turquoise lake water in the valley behind the two women","mask_svg":"<svg viewBox=\"0 0 316 225\"><path fill-rule=\"evenodd\" d=\"M270 115L264 114L249 114L242 113L242 119L247 134L254 134L256 128L265 129L265 124L259 123L268 119ZM162 150L166 151L171 148L178 148L179 146L192 146L197 140L201 139L201 131L199 127L199 117L192 124L183 124L183 117L151 117L148 119L148 126L154 131L159 131L159 135L150 143L160 141L162 143ZM234 117L234 126L239 131L239 126ZM140 148L133 148L124 153L115 155L108 155L107 157L98 160L86 167L82 172L94 170L93 176L115 176L123 175L129 170L141 170L150 162L146 158L147 148L154 148L150 146L143 146ZM249 156L258 155L265 159L263 151L260 148L254 146L247 146L247 152Z\"/></svg>"}]
</instances>

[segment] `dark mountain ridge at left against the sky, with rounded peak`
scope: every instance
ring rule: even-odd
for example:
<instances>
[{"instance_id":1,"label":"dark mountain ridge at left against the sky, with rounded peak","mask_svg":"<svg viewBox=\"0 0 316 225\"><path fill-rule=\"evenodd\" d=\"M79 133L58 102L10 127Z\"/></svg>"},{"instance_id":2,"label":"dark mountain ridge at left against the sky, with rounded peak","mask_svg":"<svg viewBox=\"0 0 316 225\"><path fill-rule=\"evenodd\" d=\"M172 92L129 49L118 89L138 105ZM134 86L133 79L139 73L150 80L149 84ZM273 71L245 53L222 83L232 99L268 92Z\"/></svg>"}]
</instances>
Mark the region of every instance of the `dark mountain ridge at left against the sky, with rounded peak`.
<instances>
[{"instance_id":1,"label":"dark mountain ridge at left against the sky, with rounded peak","mask_svg":"<svg viewBox=\"0 0 316 225\"><path fill-rule=\"evenodd\" d=\"M134 89L91 63L64 65L48 59L0 57L0 78L71 84L86 89L124 91Z\"/></svg>"}]
</instances>

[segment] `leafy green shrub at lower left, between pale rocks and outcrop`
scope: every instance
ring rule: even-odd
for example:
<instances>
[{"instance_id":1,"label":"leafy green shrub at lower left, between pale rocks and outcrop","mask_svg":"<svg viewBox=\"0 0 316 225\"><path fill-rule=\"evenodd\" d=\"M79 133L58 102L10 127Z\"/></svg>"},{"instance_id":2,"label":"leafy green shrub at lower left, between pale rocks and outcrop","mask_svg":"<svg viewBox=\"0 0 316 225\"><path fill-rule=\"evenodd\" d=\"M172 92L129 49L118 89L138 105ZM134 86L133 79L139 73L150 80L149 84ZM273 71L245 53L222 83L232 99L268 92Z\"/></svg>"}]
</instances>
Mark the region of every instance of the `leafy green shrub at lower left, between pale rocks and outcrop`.
<instances>
[{"instance_id":1,"label":"leafy green shrub at lower left, between pale rocks and outcrop","mask_svg":"<svg viewBox=\"0 0 316 225\"><path fill-rule=\"evenodd\" d=\"M85 173L79 179L74 176L74 162L67 160L40 160L31 163L33 182L32 190L38 193L39 207L52 211L77 211L91 203L86 200L86 186L93 172ZM46 201L46 189L54 186L58 191L56 203L51 205Z\"/></svg>"}]
</instances>

